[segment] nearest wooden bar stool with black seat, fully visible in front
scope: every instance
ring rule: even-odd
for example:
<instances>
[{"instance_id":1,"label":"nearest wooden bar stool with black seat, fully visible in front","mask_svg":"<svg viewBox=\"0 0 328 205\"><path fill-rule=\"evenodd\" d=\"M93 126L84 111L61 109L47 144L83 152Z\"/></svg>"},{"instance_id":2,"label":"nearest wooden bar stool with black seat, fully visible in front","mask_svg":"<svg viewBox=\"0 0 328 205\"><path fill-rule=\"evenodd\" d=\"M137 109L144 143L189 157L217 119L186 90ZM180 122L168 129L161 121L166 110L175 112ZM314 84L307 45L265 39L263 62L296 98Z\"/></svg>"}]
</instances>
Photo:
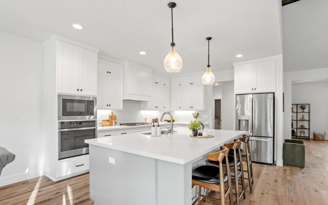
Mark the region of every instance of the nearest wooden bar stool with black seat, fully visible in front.
<instances>
[{"instance_id":1,"label":"nearest wooden bar stool with black seat, fully visible in front","mask_svg":"<svg viewBox=\"0 0 328 205\"><path fill-rule=\"evenodd\" d=\"M221 205L226 203L226 197L229 194L229 201L232 205L234 203L233 195L232 195L232 183L231 183L231 175L230 171L226 168L226 173L223 171L222 161L226 160L229 162L228 159L229 149L227 147L222 146L221 151L212 153L207 155L207 158L211 161L217 161L218 167L204 165L197 167L193 170L192 175L192 187L198 185L198 198L193 202L193 205L198 203L200 204L200 198L204 197L206 199L212 199L214 201L221 202ZM228 183L227 191L224 189L224 182ZM205 196L201 194L201 188L210 189L216 192L220 192L221 198L216 199L210 196Z\"/></svg>"}]
</instances>

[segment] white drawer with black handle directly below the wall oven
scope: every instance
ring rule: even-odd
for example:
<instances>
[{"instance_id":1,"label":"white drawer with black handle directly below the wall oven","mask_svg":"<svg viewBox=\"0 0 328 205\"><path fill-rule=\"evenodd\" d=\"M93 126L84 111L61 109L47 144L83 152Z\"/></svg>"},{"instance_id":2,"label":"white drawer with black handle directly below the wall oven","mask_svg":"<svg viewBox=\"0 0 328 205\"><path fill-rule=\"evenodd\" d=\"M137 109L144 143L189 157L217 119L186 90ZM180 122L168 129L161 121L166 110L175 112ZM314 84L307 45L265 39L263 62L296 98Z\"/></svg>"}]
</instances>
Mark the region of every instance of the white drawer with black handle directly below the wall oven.
<instances>
[{"instance_id":1,"label":"white drawer with black handle directly below the wall oven","mask_svg":"<svg viewBox=\"0 0 328 205\"><path fill-rule=\"evenodd\" d=\"M68 176L86 170L89 170L89 155L77 159L58 161L56 177Z\"/></svg>"}]
</instances>

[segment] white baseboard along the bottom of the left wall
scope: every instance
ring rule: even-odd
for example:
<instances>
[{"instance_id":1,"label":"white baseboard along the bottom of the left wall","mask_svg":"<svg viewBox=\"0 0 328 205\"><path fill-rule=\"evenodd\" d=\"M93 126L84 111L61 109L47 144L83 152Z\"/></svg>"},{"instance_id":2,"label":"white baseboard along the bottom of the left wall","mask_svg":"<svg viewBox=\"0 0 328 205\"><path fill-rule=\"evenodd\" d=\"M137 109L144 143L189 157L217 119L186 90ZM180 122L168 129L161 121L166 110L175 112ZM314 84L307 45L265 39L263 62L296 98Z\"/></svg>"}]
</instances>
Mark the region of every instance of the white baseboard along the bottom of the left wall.
<instances>
[{"instance_id":1,"label":"white baseboard along the bottom of the left wall","mask_svg":"<svg viewBox=\"0 0 328 205\"><path fill-rule=\"evenodd\" d=\"M20 174L15 174L7 177L0 178L0 187L6 186L6 185L11 185L12 183L16 183L19 181L24 181L28 180L31 178L39 177L44 175L45 170L40 169L40 170L34 170L28 173L20 173Z\"/></svg>"}]
</instances>

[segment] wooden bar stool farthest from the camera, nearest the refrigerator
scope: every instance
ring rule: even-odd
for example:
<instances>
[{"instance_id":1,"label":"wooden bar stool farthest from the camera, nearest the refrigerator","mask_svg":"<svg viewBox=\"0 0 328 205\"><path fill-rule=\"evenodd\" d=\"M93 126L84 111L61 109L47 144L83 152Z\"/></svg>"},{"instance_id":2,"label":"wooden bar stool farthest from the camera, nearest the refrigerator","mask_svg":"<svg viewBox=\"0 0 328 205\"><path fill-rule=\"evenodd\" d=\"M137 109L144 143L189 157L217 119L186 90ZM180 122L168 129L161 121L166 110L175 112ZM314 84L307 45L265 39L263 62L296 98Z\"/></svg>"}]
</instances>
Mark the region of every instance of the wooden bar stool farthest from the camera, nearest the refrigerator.
<instances>
[{"instance_id":1,"label":"wooden bar stool farthest from the camera, nearest the refrigerator","mask_svg":"<svg viewBox=\"0 0 328 205\"><path fill-rule=\"evenodd\" d=\"M254 177L253 177L253 163L252 163L252 157L251 157L250 145L249 145L250 136L243 135L238 140L240 140L243 143L244 148L245 148L245 149L240 149L240 152L241 152L243 161L247 162L247 171L244 170L244 172L247 172L248 178L245 178L245 179L247 179L249 181L250 193L252 194L253 193L252 185L254 185ZM232 155L232 152L230 152L229 155Z\"/></svg>"}]
</instances>

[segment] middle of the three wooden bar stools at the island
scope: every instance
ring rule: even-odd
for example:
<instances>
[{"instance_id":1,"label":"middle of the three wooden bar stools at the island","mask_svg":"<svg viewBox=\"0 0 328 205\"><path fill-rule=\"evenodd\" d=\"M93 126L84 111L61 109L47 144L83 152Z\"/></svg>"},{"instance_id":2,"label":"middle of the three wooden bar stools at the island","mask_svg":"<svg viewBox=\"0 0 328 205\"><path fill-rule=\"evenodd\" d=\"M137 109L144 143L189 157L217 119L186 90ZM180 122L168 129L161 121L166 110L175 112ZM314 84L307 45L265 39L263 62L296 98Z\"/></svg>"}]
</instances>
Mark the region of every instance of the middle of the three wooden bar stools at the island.
<instances>
[{"instance_id":1,"label":"middle of the three wooden bar stools at the island","mask_svg":"<svg viewBox=\"0 0 328 205\"><path fill-rule=\"evenodd\" d=\"M228 168L231 169L231 178L235 180L235 192L236 204L239 205L239 199L243 196L246 199L245 193L245 181L242 168L242 158L240 152L241 141L237 140L234 142L224 144L225 147L230 149L230 153L233 153L233 156L228 156L228 161L223 160L222 165L226 166L227 172ZM238 154L237 154L238 153ZM215 161L208 160L210 163L217 164ZM241 180L241 191L239 191L239 178Z\"/></svg>"}]
</instances>

